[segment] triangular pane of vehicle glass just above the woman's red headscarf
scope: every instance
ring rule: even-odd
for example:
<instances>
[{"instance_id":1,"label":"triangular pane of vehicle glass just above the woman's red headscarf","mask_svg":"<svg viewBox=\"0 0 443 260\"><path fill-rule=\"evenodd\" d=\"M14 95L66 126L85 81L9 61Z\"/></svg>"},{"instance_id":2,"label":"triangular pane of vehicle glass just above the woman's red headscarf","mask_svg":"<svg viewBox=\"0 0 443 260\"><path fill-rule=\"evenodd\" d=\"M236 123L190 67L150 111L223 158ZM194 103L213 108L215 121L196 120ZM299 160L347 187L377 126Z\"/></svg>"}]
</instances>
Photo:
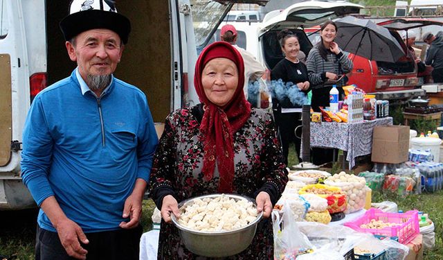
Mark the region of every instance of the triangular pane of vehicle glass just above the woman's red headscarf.
<instances>
[{"instance_id":1,"label":"triangular pane of vehicle glass just above the woman's red headscarf","mask_svg":"<svg viewBox=\"0 0 443 260\"><path fill-rule=\"evenodd\" d=\"M222 5L215 1L192 0L192 21L194 24L195 45L197 49L204 45L210 33L217 27L221 17L230 5Z\"/></svg>"}]
</instances>

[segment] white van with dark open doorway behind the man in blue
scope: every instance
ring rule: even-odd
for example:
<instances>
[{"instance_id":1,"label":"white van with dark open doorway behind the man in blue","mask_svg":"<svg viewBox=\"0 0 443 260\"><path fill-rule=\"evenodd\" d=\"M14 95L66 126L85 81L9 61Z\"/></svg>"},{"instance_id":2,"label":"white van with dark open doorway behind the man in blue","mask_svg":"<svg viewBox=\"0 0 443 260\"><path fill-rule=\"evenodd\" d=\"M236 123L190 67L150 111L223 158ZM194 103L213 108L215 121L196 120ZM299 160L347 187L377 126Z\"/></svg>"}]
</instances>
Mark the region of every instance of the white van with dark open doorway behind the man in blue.
<instances>
[{"instance_id":1,"label":"white van with dark open doorway behind the man in blue","mask_svg":"<svg viewBox=\"0 0 443 260\"><path fill-rule=\"evenodd\" d=\"M193 87L197 48L234 3L268 0L120 0L132 22L116 77L147 94L154 121L199 103ZM58 23L69 1L0 0L0 210L35 207L21 182L21 135L33 97L75 68Z\"/></svg>"}]
</instances>

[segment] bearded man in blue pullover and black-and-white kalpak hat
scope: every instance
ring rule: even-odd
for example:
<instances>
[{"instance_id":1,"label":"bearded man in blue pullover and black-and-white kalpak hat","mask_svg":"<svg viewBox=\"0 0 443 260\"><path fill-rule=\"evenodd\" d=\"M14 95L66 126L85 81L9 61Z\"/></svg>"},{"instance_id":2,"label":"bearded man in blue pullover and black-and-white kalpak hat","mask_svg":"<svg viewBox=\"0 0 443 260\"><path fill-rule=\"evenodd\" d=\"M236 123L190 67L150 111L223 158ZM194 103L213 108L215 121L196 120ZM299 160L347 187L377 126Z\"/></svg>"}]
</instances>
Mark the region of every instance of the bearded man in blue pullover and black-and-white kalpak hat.
<instances>
[{"instance_id":1,"label":"bearded man in blue pullover and black-and-white kalpak hat","mask_svg":"<svg viewBox=\"0 0 443 260\"><path fill-rule=\"evenodd\" d=\"M131 24L112 1L73 0L60 28L78 67L35 97L23 133L35 259L138 259L158 137L145 94L112 74Z\"/></svg>"}]
</instances>

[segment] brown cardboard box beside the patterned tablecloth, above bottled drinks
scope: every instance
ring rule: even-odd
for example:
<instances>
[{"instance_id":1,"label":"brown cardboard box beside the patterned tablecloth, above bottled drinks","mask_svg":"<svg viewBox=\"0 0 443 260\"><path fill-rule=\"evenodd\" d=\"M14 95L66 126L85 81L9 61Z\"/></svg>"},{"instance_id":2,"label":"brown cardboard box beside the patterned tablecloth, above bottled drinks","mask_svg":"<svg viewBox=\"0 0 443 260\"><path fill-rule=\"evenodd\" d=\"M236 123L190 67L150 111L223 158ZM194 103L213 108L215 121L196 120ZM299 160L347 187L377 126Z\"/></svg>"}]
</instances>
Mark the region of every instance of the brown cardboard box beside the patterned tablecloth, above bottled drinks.
<instances>
[{"instance_id":1,"label":"brown cardboard box beside the patterned tablecloth, above bottled drinks","mask_svg":"<svg viewBox=\"0 0 443 260\"><path fill-rule=\"evenodd\" d=\"M408 161L409 126L376 126L372 132L372 162L399 164Z\"/></svg>"}]
</instances>

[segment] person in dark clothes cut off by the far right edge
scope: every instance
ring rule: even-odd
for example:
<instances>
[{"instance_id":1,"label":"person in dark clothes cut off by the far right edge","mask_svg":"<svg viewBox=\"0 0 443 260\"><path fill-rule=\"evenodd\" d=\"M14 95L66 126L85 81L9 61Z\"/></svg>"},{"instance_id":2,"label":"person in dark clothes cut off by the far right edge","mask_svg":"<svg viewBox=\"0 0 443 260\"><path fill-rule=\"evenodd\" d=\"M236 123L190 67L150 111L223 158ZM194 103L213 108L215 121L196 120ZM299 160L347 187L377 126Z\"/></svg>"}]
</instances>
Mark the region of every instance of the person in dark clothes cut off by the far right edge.
<instances>
[{"instance_id":1,"label":"person in dark clothes cut off by the far right edge","mask_svg":"<svg viewBox=\"0 0 443 260\"><path fill-rule=\"evenodd\" d=\"M424 64L433 67L432 78L434 83L443 83L443 31L436 35L428 32L423 35L423 41L430 45L428 51L426 51Z\"/></svg>"}]
</instances>

